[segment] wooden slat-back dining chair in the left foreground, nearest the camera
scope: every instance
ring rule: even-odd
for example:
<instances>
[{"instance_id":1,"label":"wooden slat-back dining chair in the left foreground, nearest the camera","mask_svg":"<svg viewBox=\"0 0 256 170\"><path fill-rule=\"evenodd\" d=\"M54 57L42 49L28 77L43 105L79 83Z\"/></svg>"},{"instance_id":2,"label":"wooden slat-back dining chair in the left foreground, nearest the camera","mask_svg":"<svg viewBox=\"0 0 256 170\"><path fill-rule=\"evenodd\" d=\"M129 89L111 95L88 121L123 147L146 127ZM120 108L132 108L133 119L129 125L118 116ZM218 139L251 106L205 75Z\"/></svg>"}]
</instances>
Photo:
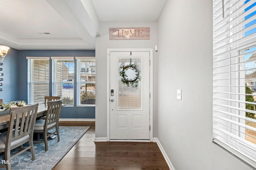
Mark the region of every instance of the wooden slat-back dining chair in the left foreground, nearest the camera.
<instances>
[{"instance_id":1,"label":"wooden slat-back dining chair in the left foreground, nearest the camera","mask_svg":"<svg viewBox=\"0 0 256 170\"><path fill-rule=\"evenodd\" d=\"M33 146L34 125L38 104L10 108L10 121L7 133L0 134L0 152L4 152L5 160L2 161L2 167L11 170L11 160L23 152L30 151L32 160L35 160ZM24 143L29 146L23 148ZM11 156L11 150L18 149L19 152Z\"/></svg>"}]
</instances>

